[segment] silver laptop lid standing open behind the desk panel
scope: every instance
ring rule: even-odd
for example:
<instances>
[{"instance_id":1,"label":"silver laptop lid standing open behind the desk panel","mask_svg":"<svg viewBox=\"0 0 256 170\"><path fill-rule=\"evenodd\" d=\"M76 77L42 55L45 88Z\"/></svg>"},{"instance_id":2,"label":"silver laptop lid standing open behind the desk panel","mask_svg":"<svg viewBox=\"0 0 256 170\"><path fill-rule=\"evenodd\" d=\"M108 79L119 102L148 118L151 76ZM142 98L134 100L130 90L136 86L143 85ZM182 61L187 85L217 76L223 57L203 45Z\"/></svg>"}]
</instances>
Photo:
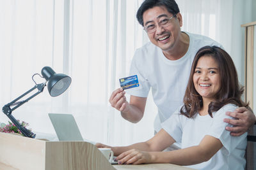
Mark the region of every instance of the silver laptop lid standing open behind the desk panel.
<instances>
[{"instance_id":1,"label":"silver laptop lid standing open behind the desk panel","mask_svg":"<svg viewBox=\"0 0 256 170\"><path fill-rule=\"evenodd\" d=\"M59 141L83 141L73 115L59 113L49 113L48 115Z\"/></svg>"}]
</instances>

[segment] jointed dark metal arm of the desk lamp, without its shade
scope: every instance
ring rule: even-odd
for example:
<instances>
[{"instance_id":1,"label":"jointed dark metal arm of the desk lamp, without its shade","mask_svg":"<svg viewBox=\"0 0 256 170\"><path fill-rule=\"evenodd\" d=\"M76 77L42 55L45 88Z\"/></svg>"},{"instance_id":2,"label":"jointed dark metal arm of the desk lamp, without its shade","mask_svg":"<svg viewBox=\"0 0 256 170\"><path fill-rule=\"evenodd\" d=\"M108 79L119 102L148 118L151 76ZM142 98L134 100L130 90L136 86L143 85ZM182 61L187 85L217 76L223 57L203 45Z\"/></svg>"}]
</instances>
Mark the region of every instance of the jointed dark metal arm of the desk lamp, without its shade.
<instances>
[{"instance_id":1,"label":"jointed dark metal arm of the desk lamp, without its shade","mask_svg":"<svg viewBox=\"0 0 256 170\"><path fill-rule=\"evenodd\" d=\"M24 136L29 137L29 138L35 138L36 135L33 134L33 132L31 132L28 129L26 129L25 127L23 127L22 125L20 125L20 123L13 117L12 111L17 109L17 108L19 108L22 104L28 102L30 99L32 99L33 97L37 96L41 92L43 92L44 87L45 87L45 83L36 84L35 87L31 88L30 90L28 90L27 92L25 92L21 96L17 97L16 99L11 101L10 103L5 104L3 106L3 110L2 110L3 113L8 118L10 118L10 120L13 122L13 124L15 124L15 126L20 130L20 132L22 132L22 134L24 134ZM32 92L35 89L38 89L38 92L36 92L32 96L28 97L24 101L19 101L19 99L21 99L22 97L26 96L27 94L29 94L30 92ZM11 108L11 106L15 106L15 107Z\"/></svg>"}]
</instances>

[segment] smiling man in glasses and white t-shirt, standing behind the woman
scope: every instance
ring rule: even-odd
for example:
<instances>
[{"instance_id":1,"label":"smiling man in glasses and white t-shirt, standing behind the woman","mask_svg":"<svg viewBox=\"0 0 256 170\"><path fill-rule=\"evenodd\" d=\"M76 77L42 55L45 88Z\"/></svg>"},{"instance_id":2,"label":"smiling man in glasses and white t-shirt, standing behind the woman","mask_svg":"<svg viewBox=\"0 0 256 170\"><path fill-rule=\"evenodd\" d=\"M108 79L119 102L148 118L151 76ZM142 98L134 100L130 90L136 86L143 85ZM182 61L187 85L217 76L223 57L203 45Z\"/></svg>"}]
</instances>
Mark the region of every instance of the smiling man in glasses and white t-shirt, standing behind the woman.
<instances>
[{"instance_id":1,"label":"smiling man in glasses and white t-shirt, standing behind the woman","mask_svg":"<svg viewBox=\"0 0 256 170\"><path fill-rule=\"evenodd\" d=\"M125 91L116 89L109 103L121 111L126 120L139 122L152 88L158 108L154 129L158 132L161 123L182 104L196 52L202 46L221 45L205 36L181 32L182 15L174 0L145 0L137 12L137 19L150 39L150 42L136 50L131 64L130 74L138 75L140 87L127 90L131 94L129 103ZM246 108L226 114L236 118L223 120L234 125L226 128L232 136L240 136L255 122L252 111Z\"/></svg>"}]
</instances>

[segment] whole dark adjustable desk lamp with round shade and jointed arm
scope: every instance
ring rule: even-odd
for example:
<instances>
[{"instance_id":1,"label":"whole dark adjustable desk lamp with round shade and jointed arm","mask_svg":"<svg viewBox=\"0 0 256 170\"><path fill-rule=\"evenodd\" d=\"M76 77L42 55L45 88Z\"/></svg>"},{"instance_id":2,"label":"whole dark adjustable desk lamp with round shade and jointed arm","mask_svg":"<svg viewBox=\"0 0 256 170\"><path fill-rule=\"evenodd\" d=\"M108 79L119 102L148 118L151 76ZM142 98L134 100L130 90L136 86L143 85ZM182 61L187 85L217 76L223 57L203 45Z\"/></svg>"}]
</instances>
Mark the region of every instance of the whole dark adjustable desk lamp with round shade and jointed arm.
<instances>
[{"instance_id":1,"label":"whole dark adjustable desk lamp with round shade and jointed arm","mask_svg":"<svg viewBox=\"0 0 256 170\"><path fill-rule=\"evenodd\" d=\"M37 96L38 94L40 94L41 92L43 92L44 87L48 86L48 91L49 94L52 97L56 97L59 96L60 94L62 94L63 92L65 92L65 90L68 89L70 83L71 83L71 78L70 76L67 76L65 74L56 74L53 69L51 67L45 66L44 68L42 68L42 76L40 76L40 74L36 73L32 76L32 80L35 82L35 87L33 87L32 89L28 90L28 92L25 92L24 94L22 94L21 96L17 97L17 99L11 101L8 104L5 104L3 106L3 113L10 118L10 120L13 122L13 124L15 124L15 126L20 130L20 132L22 132L22 134L24 134L24 136L29 137L29 138L35 138L36 134L34 134L33 132L29 131L28 129L26 129L25 127L23 127L22 125L20 125L20 123L13 117L12 115L12 111L19 108L19 106L21 106L22 104L28 102L30 99L32 99L33 97ZM37 84L36 81L33 79L35 75L39 75L42 78L45 78L45 83L40 83ZM24 101L19 101L19 99L21 99L22 97L26 96L27 94L29 94L30 92L32 92L33 90L37 89L38 91L33 94L32 96L28 97L27 99L25 99ZM13 106L13 108L11 108L11 106Z\"/></svg>"}]
</instances>

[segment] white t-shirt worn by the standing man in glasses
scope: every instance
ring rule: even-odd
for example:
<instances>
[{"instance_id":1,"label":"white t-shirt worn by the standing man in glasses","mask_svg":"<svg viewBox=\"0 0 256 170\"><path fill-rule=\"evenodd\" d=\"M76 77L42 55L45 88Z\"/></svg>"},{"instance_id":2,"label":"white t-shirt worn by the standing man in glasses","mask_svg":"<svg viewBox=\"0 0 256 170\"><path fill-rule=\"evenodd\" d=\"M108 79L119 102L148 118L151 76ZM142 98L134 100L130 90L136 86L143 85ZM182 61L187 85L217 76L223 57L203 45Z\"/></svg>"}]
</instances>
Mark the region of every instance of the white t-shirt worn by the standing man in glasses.
<instances>
[{"instance_id":1,"label":"white t-shirt worn by the standing man in glasses","mask_svg":"<svg viewBox=\"0 0 256 170\"><path fill-rule=\"evenodd\" d=\"M128 89L132 96L147 97L150 88L158 114L154 122L156 132L161 122L169 118L183 101L191 65L196 52L206 45L221 46L211 38L185 32L189 36L189 48L179 60L164 57L161 48L148 42L136 50L132 59L130 75L137 74L140 87Z\"/></svg>"}]
</instances>

